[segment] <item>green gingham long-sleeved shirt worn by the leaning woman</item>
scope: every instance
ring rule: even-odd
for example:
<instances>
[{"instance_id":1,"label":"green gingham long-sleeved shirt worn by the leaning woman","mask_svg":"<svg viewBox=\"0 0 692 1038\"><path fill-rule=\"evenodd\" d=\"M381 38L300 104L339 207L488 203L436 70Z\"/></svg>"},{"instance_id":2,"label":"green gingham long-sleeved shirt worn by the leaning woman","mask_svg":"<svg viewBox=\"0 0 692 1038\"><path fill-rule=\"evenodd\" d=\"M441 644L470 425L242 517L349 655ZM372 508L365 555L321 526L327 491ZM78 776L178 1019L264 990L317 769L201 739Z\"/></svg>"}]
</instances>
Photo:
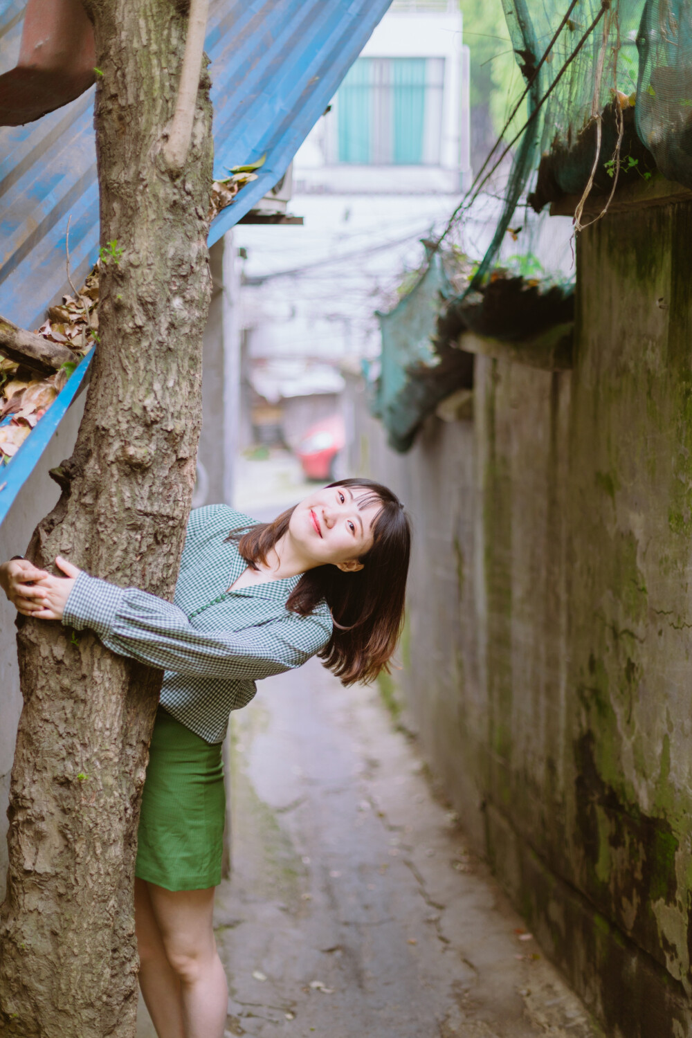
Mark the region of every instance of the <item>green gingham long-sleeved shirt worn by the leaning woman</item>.
<instances>
[{"instance_id":1,"label":"green gingham long-sleeved shirt worn by the leaning woman","mask_svg":"<svg viewBox=\"0 0 692 1038\"><path fill-rule=\"evenodd\" d=\"M227 591L247 563L226 538L255 521L226 504L195 509L172 603L80 573L62 616L118 655L163 667L161 705L210 743L223 741L256 680L301 666L332 634L326 602L307 617L286 609L300 576Z\"/></svg>"}]
</instances>

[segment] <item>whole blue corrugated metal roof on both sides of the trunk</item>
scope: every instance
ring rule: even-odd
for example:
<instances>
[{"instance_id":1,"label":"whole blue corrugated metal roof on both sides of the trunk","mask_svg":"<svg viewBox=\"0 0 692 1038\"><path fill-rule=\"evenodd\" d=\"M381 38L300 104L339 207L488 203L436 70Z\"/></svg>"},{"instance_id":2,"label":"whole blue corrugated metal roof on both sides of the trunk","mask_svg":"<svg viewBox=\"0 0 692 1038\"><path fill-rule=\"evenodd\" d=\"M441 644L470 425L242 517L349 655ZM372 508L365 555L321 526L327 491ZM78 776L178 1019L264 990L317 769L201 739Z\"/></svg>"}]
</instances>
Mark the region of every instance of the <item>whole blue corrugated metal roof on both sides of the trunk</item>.
<instances>
[{"instance_id":1,"label":"whole blue corrugated metal roof on both sides of the trunk","mask_svg":"<svg viewBox=\"0 0 692 1038\"><path fill-rule=\"evenodd\" d=\"M267 159L257 180L214 220L210 244L281 179L389 2L212 0L206 53L212 59L215 176L265 154ZM0 0L1 72L15 64L24 7L25 0ZM70 291L65 231L71 216L73 280L83 281L95 262L99 188L92 118L93 88L36 122L0 127L0 313L21 327L37 327L46 307ZM25 445L35 436L36 431ZM24 480L38 460L24 454L25 445L9 466L13 482L30 455ZM11 503L8 490L0 494L0 522Z\"/></svg>"}]
</instances>

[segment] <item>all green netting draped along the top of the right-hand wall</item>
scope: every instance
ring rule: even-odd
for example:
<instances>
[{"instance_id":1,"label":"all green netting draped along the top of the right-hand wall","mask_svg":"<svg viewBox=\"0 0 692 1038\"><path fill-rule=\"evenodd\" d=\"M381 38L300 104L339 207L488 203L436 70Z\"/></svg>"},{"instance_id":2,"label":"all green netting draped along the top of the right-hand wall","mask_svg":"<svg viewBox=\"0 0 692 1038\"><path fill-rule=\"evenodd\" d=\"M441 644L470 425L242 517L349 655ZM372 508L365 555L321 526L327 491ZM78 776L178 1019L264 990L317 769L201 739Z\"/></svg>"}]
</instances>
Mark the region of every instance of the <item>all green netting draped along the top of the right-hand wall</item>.
<instances>
[{"instance_id":1,"label":"all green netting draped along the top of the right-hand wall","mask_svg":"<svg viewBox=\"0 0 692 1038\"><path fill-rule=\"evenodd\" d=\"M462 331L511 342L569 326L572 290L561 264L546 267L539 258L542 238L545 245L551 236L529 206L539 213L572 195L579 227L578 202L589 192L602 212L624 183L646 182L657 168L692 188L692 0L502 5L525 95L507 113L503 143L428 255L424 275L390 313L379 315L373 413L398 450L408 449L445 394L472 384L469 355L456 346ZM489 184L509 153L505 183ZM444 266L444 239L493 189L503 206L492 242L473 276L456 283L449 252Z\"/></svg>"}]
</instances>

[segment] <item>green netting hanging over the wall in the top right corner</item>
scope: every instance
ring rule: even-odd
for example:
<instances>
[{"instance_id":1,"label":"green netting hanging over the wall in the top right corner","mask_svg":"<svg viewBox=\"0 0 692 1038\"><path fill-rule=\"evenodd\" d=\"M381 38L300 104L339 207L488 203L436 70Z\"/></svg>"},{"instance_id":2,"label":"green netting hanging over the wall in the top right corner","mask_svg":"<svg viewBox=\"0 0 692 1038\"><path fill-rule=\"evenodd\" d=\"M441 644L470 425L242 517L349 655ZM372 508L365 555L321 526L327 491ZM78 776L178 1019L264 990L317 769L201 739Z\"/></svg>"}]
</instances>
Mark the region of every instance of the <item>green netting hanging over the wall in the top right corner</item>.
<instances>
[{"instance_id":1,"label":"green netting hanging over the wall in the top right corner","mask_svg":"<svg viewBox=\"0 0 692 1038\"><path fill-rule=\"evenodd\" d=\"M692 0L502 3L526 100L461 207L463 217L488 190L502 149L514 154L474 288L493 267L522 198L538 212L563 195L593 192L605 208L612 191L657 168L692 187Z\"/></svg>"}]
</instances>

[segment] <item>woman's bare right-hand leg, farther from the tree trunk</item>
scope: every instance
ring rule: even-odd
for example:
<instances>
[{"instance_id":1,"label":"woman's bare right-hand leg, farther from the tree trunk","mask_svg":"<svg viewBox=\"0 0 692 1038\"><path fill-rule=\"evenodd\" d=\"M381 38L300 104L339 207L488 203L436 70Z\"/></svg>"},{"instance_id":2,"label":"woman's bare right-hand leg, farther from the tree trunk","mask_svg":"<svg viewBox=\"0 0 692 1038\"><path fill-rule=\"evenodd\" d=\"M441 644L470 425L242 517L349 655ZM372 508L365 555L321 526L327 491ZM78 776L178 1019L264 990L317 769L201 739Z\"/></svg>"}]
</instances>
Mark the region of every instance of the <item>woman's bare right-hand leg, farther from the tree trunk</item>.
<instances>
[{"instance_id":1,"label":"woman's bare right-hand leg, farther from the tree trunk","mask_svg":"<svg viewBox=\"0 0 692 1038\"><path fill-rule=\"evenodd\" d=\"M179 982L184 1038L223 1038L228 986L214 938L214 887L167 891L155 883L146 886L166 958ZM160 1034L161 1038L177 1038L178 1032Z\"/></svg>"}]
</instances>

